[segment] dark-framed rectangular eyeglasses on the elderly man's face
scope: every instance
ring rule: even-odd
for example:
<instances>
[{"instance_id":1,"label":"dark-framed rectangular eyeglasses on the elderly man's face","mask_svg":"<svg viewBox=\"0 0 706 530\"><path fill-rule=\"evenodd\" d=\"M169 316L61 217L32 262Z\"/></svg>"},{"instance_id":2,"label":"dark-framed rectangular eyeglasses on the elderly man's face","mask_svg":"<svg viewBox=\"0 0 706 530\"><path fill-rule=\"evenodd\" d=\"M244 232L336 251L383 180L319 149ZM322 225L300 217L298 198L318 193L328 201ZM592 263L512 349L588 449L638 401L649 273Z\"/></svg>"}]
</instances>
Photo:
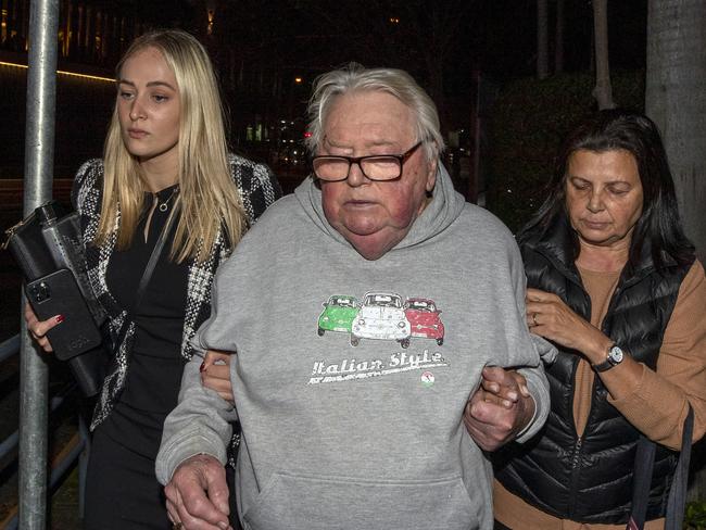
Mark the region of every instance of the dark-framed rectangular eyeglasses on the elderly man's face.
<instances>
[{"instance_id":1,"label":"dark-framed rectangular eyeglasses on the elderly man's face","mask_svg":"<svg viewBox=\"0 0 706 530\"><path fill-rule=\"evenodd\" d=\"M421 146L416 143L402 154L371 154L368 156L331 156L324 154L312 157L314 175L319 180L338 182L351 173L351 164L357 164L361 173L370 180L394 180L402 176L402 166Z\"/></svg>"}]
</instances>

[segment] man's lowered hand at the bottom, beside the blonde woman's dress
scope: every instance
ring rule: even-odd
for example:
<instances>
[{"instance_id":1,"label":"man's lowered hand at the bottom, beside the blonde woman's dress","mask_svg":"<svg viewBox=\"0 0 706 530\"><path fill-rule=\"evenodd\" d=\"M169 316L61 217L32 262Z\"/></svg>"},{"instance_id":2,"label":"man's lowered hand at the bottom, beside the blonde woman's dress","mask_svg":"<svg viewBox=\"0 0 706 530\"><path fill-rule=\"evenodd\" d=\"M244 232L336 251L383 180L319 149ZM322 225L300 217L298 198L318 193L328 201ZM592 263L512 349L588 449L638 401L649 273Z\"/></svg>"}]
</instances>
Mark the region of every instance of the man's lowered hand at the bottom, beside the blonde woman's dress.
<instances>
[{"instance_id":1,"label":"man's lowered hand at the bottom, beside the blonde woman's dress","mask_svg":"<svg viewBox=\"0 0 706 530\"><path fill-rule=\"evenodd\" d=\"M185 530L231 529L228 521L226 470L211 455L184 460L164 488L166 508L175 526Z\"/></svg>"}]
</instances>

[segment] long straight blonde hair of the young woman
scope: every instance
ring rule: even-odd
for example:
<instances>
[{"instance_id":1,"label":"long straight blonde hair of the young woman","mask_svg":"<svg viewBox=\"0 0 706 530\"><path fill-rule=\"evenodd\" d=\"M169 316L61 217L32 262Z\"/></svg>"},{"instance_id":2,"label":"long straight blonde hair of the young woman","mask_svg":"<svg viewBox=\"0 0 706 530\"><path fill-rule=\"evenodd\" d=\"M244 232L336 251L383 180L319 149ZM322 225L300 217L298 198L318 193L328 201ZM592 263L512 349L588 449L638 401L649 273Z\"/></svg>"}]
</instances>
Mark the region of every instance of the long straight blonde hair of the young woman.
<instances>
[{"instance_id":1,"label":"long straight blonde hair of the young woman","mask_svg":"<svg viewBox=\"0 0 706 530\"><path fill-rule=\"evenodd\" d=\"M191 35L161 29L133 41L116 72L127 59L148 48L156 49L176 77L180 98L177 184L180 217L171 257L205 260L217 241L219 228L231 245L247 226L245 212L228 163L223 105L209 54ZM128 248L143 207L144 180L139 161L121 135L117 104L103 150L104 181L101 220L94 243L104 243L117 226L117 248Z\"/></svg>"}]
</instances>

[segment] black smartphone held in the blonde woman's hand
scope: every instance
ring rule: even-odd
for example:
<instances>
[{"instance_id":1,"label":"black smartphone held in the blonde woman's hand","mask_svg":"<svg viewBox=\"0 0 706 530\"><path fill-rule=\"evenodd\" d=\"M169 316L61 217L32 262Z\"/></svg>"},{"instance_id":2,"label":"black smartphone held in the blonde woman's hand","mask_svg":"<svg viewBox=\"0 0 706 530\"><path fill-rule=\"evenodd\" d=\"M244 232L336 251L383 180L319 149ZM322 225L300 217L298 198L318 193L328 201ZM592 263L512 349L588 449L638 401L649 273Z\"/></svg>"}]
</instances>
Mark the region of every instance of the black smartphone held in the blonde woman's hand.
<instances>
[{"instance_id":1,"label":"black smartphone held in the blonde woman's hand","mask_svg":"<svg viewBox=\"0 0 706 530\"><path fill-rule=\"evenodd\" d=\"M64 321L47 332L59 359L67 361L101 343L101 333L74 275L67 268L30 281L25 293L40 320L63 315Z\"/></svg>"}]
</instances>

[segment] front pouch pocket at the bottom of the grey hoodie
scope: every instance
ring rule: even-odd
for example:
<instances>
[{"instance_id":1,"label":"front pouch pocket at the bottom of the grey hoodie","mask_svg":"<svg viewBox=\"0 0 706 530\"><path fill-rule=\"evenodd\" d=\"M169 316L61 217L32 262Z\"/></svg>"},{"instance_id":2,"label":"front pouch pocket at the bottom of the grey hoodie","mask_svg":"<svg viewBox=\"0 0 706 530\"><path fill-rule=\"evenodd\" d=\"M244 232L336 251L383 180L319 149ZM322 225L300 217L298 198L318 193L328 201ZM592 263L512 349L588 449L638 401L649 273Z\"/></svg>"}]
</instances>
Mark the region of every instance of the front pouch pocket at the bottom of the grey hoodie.
<instances>
[{"instance_id":1,"label":"front pouch pocket at the bottom of the grey hoodie","mask_svg":"<svg viewBox=\"0 0 706 530\"><path fill-rule=\"evenodd\" d=\"M470 530L480 508L461 477L379 481L274 474L243 514L250 530Z\"/></svg>"}]
</instances>

